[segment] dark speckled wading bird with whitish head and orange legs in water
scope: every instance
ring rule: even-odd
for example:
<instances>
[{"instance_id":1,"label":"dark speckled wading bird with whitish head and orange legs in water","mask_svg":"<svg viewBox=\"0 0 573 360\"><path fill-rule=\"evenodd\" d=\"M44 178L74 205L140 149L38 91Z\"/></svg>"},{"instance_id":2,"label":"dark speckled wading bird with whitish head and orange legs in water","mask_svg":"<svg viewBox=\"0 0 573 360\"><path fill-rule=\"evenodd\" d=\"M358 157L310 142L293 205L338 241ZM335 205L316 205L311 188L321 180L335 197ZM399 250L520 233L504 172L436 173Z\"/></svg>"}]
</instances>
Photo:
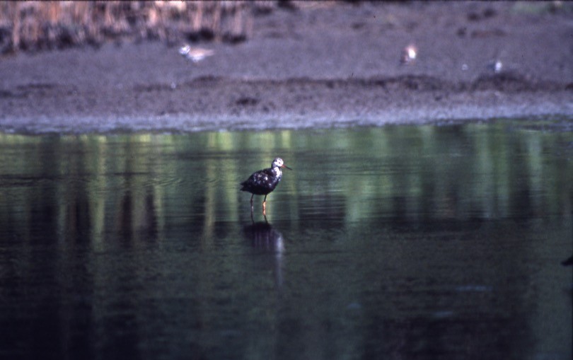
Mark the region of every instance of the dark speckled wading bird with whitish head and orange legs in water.
<instances>
[{"instance_id":1,"label":"dark speckled wading bird with whitish head and orange legs in water","mask_svg":"<svg viewBox=\"0 0 573 360\"><path fill-rule=\"evenodd\" d=\"M274 158L271 167L256 171L253 175L241 182L241 191L250 192L250 215L253 216L253 197L255 195L265 195L262 200L262 215L267 216L267 195L274 190L282 178L281 168L292 170L284 165L282 158Z\"/></svg>"}]
</instances>

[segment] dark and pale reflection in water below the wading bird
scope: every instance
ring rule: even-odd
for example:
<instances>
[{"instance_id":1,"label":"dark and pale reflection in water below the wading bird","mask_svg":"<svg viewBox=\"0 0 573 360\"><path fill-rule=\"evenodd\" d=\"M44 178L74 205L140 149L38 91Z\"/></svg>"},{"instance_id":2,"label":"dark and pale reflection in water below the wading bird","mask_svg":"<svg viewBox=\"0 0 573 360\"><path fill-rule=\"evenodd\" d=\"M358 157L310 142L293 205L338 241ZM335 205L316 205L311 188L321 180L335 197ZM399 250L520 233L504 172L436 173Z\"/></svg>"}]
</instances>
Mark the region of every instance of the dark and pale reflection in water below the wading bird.
<instances>
[{"instance_id":1,"label":"dark and pale reflection in water below the wading bird","mask_svg":"<svg viewBox=\"0 0 573 360\"><path fill-rule=\"evenodd\" d=\"M274 229L266 220L265 218L265 222L253 222L252 225L243 227L243 232L250 239L253 248L274 253L274 280L277 288L280 289L282 286L284 238L282 233Z\"/></svg>"}]
</instances>

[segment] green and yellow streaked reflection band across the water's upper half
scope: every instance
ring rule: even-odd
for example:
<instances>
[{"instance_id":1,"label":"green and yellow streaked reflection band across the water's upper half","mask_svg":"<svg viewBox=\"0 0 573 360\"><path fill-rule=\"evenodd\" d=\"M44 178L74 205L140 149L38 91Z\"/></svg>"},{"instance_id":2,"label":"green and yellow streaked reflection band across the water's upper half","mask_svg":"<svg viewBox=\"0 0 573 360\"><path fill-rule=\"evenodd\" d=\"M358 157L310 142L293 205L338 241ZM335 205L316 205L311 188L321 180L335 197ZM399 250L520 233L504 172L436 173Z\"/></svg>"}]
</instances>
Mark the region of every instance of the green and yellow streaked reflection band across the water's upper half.
<instances>
[{"instance_id":1,"label":"green and yellow streaked reflection band across the water's upper half","mask_svg":"<svg viewBox=\"0 0 573 360\"><path fill-rule=\"evenodd\" d=\"M1 134L0 221L16 217L33 228L32 214L43 206L54 213L59 234L77 233L78 226L95 238L153 228L161 238L166 224L190 221L209 238L216 221L248 219L250 194L238 192L238 182L274 156L294 170L269 197L270 220L560 216L571 211L572 144L570 132L516 121L298 132Z\"/></svg>"}]
</instances>

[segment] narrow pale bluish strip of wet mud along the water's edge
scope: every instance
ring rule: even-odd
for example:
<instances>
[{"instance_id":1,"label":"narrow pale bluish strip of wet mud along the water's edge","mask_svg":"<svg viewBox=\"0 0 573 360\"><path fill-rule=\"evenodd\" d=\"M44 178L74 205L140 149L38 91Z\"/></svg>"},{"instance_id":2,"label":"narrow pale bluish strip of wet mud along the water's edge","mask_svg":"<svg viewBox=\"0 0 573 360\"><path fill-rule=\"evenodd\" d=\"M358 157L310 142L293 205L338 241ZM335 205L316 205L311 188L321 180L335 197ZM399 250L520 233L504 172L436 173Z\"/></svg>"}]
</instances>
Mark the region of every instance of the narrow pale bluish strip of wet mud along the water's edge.
<instances>
[{"instance_id":1,"label":"narrow pale bluish strip of wet mud along the water's edge","mask_svg":"<svg viewBox=\"0 0 573 360\"><path fill-rule=\"evenodd\" d=\"M570 107L569 107L570 108ZM411 110L388 110L388 112L368 117L340 116L332 117L320 114L305 116L282 114L280 119L253 116L194 116L158 115L145 117L33 117L13 119L10 123L0 124L1 134L20 135L81 135L81 134L190 134L194 132L242 132L242 131L282 131L282 130L320 130L352 129L361 127L385 127L395 125L453 125L473 122L496 122L499 120L519 120L523 122L566 122L567 126L556 127L573 131L573 115L561 111L560 105L545 106L544 110L531 112L518 106L503 108L481 107L436 108L425 112L426 117L413 117ZM311 119L311 121L309 121ZM279 124L280 120L280 124ZM73 124L71 124L73 123Z\"/></svg>"}]
</instances>

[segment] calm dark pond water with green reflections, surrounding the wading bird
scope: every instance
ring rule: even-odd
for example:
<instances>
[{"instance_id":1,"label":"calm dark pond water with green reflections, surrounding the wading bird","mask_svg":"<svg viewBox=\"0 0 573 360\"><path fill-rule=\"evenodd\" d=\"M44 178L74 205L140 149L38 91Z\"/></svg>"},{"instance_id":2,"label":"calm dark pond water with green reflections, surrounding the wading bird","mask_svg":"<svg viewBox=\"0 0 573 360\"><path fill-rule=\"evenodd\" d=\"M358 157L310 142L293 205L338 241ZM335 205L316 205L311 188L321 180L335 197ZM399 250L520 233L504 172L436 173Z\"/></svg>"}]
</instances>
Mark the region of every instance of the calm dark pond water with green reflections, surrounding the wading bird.
<instances>
[{"instance_id":1,"label":"calm dark pond water with green reflections, surrounding the wading bird","mask_svg":"<svg viewBox=\"0 0 573 360\"><path fill-rule=\"evenodd\" d=\"M0 358L571 359L572 159L555 122L0 135Z\"/></svg>"}]
</instances>

